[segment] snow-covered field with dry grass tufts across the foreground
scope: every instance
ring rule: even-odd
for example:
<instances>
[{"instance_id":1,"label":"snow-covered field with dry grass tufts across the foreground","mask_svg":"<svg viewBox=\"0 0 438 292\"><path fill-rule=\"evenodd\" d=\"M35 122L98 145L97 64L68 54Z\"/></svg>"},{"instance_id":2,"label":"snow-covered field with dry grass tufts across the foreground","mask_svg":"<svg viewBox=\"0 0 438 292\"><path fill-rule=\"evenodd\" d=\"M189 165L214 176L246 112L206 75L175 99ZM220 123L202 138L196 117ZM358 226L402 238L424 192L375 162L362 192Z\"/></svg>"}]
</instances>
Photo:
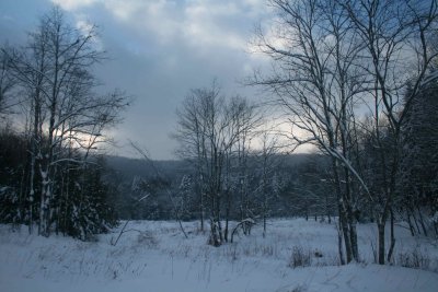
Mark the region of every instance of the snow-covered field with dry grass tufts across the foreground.
<instances>
[{"instance_id":1,"label":"snow-covered field with dry grass tufts across the foreground","mask_svg":"<svg viewBox=\"0 0 438 292\"><path fill-rule=\"evenodd\" d=\"M185 223L185 238L177 223L150 221L129 222L111 245L122 226L83 243L0 225L0 291L438 291L437 241L415 240L401 227L396 262L429 271L373 265L371 224L358 226L364 262L343 267L334 224L273 220L266 238L256 225L221 247L206 244L197 222ZM290 267L293 253L310 255L310 266Z\"/></svg>"}]
</instances>

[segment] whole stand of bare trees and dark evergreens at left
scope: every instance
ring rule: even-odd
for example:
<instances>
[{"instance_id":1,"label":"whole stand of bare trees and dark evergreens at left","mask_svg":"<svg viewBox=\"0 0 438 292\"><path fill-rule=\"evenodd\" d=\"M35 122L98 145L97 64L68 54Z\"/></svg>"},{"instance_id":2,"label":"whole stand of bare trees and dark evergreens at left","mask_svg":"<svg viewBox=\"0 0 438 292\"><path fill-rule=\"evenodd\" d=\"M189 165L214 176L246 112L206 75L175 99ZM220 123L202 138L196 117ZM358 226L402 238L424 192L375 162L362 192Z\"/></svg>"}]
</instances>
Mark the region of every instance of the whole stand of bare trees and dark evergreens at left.
<instances>
[{"instance_id":1,"label":"whole stand of bare trees and dark evergreens at left","mask_svg":"<svg viewBox=\"0 0 438 292\"><path fill-rule=\"evenodd\" d=\"M54 8L26 44L1 48L1 222L81 240L116 223L96 151L127 98L96 92L92 69L104 55L95 37Z\"/></svg>"}]
</instances>

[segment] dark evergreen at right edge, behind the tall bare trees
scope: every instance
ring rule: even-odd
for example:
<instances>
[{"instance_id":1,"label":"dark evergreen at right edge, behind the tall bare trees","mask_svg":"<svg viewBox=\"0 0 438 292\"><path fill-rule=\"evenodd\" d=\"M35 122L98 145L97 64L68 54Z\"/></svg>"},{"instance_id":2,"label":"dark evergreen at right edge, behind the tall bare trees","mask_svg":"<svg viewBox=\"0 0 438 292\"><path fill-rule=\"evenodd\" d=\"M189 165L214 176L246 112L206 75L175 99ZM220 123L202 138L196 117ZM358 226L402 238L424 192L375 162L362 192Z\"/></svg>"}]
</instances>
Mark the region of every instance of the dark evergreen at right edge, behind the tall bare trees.
<instances>
[{"instance_id":1,"label":"dark evergreen at right edge, behind the tall bare trees","mask_svg":"<svg viewBox=\"0 0 438 292\"><path fill-rule=\"evenodd\" d=\"M399 177L399 200L413 234L419 222L427 235L423 215L438 211L438 84L429 83L413 98L402 128L403 148ZM425 214L424 214L425 212Z\"/></svg>"}]
</instances>

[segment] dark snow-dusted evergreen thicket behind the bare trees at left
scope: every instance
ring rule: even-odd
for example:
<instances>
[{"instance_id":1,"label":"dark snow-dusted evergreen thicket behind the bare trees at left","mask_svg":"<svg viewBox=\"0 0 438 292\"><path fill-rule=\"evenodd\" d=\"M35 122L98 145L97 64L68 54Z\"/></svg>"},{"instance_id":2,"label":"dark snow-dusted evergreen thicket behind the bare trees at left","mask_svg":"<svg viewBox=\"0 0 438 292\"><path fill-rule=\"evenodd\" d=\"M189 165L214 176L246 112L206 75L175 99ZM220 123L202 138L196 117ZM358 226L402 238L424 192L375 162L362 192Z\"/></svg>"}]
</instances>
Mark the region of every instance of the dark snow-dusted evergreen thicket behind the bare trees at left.
<instances>
[{"instance_id":1,"label":"dark snow-dusted evergreen thicket behind the bare trees at left","mask_svg":"<svg viewBox=\"0 0 438 292\"><path fill-rule=\"evenodd\" d=\"M28 138L2 129L0 132L0 218L2 223L14 226L28 225L33 232L38 225L41 210L41 186L34 188L34 200L30 200ZM83 160L80 155L76 160ZM49 229L81 240L91 240L94 234L107 232L117 224L114 208L117 198L103 179L106 173L104 159L92 156L83 165L66 161L57 165L53 176ZM36 182L41 182L37 174ZM32 218L31 218L32 217ZM33 225L34 224L34 225ZM48 236L48 235L47 235Z\"/></svg>"}]
</instances>

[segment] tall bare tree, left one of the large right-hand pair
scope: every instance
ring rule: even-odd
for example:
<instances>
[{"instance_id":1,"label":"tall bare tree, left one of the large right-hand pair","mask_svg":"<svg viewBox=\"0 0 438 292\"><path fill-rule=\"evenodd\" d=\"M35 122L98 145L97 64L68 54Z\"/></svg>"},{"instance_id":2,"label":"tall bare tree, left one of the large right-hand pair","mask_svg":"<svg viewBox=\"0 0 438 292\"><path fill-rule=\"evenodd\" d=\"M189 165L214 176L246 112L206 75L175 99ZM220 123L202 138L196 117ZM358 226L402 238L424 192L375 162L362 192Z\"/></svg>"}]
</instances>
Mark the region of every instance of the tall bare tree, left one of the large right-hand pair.
<instances>
[{"instance_id":1,"label":"tall bare tree, left one of the large right-hand pair","mask_svg":"<svg viewBox=\"0 0 438 292\"><path fill-rule=\"evenodd\" d=\"M354 63L362 45L336 1L269 3L279 22L268 33L260 31L256 44L272 58L274 69L270 75L256 74L251 83L275 94L276 104L292 125L290 139L297 144L314 144L332 159L347 262L358 260L351 177L365 189L367 186L350 163L350 151L354 106L365 82Z\"/></svg>"}]
</instances>

